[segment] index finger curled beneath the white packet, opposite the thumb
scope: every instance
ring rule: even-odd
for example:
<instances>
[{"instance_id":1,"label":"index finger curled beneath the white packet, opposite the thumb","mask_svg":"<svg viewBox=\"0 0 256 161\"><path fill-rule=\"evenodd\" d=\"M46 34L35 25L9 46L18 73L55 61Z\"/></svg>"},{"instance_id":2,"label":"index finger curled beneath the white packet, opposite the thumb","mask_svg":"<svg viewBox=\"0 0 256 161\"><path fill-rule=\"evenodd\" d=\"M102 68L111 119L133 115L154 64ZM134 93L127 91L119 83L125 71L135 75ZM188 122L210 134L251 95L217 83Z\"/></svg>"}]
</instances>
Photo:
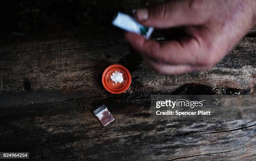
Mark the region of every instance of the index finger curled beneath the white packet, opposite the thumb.
<instances>
[{"instance_id":1,"label":"index finger curled beneath the white packet, opposite the thumb","mask_svg":"<svg viewBox=\"0 0 256 161\"><path fill-rule=\"evenodd\" d=\"M160 63L160 64L189 64L202 65L205 62L203 55L203 47L200 47L194 38L183 39L180 41L169 41L160 44L154 40L146 40L144 37L134 34L126 33L126 40L130 45L137 50L143 57Z\"/></svg>"}]
</instances>

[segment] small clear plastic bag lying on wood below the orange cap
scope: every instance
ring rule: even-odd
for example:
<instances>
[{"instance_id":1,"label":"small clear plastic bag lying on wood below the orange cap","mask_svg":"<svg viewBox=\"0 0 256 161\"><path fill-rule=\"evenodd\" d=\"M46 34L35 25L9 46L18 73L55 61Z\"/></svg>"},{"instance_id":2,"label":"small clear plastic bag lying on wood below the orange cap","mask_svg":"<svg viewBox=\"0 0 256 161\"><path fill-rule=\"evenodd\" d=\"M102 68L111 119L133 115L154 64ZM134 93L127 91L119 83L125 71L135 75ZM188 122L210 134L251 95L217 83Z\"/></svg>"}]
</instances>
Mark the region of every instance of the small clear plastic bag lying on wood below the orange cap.
<instances>
[{"instance_id":1,"label":"small clear plastic bag lying on wood below the orange cap","mask_svg":"<svg viewBox=\"0 0 256 161\"><path fill-rule=\"evenodd\" d=\"M103 104L101 107L93 111L95 116L100 120L103 126L107 126L110 122L114 121L114 117L108 111L108 108Z\"/></svg>"}]
</instances>

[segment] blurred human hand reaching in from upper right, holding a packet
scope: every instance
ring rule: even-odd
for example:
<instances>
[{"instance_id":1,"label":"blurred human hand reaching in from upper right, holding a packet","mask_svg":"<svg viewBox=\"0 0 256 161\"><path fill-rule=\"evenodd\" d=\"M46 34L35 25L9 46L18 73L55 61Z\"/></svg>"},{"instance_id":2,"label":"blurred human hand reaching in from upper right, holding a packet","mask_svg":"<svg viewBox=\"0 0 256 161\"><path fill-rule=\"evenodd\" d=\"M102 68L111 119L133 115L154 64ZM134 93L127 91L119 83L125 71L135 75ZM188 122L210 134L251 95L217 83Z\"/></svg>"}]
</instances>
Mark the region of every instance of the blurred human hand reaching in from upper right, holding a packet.
<instances>
[{"instance_id":1,"label":"blurred human hand reaching in from upper right, holding a packet","mask_svg":"<svg viewBox=\"0 0 256 161\"><path fill-rule=\"evenodd\" d=\"M215 66L256 23L256 0L172 0L135 17L142 25L182 27L186 36L160 44L126 33L125 39L161 74L180 74Z\"/></svg>"}]
</instances>

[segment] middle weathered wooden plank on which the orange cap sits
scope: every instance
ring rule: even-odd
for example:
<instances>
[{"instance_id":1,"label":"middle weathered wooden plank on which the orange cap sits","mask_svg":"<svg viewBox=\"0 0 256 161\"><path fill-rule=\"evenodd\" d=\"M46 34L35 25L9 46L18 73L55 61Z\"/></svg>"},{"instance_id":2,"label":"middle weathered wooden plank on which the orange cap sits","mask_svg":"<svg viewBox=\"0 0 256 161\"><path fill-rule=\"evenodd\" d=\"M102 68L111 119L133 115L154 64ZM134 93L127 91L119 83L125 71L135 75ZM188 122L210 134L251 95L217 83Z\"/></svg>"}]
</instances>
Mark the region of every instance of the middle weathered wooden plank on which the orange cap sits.
<instances>
[{"instance_id":1,"label":"middle weathered wooden plank on which the orange cap sits","mask_svg":"<svg viewBox=\"0 0 256 161\"><path fill-rule=\"evenodd\" d=\"M108 39L102 40L107 45L98 47L74 47L1 58L2 107L108 95L102 87L101 74L110 64L122 64L130 70L132 84L126 93L134 93L138 89L168 94L187 83L251 89L251 93L255 92L256 38L245 38L222 62L207 72L179 76L156 74L129 45L123 42L112 44ZM63 46L70 48L70 44L77 42L65 42Z\"/></svg>"}]
</instances>

